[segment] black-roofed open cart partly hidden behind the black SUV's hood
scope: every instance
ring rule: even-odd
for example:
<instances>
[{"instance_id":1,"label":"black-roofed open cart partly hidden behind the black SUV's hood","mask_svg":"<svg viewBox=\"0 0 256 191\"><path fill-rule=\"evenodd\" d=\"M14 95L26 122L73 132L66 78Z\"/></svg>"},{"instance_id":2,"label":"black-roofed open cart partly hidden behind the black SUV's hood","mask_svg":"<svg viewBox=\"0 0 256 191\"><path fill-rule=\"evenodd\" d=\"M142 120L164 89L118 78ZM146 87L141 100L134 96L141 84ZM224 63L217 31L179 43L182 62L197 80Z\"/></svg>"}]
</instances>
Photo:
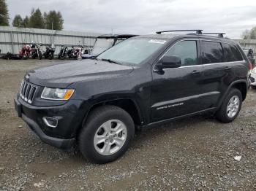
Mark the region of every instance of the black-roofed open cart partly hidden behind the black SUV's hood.
<instances>
[{"instance_id":1,"label":"black-roofed open cart partly hidden behind the black SUV's hood","mask_svg":"<svg viewBox=\"0 0 256 191\"><path fill-rule=\"evenodd\" d=\"M113 47L115 44L122 42L125 39L134 37L134 34L104 34L98 36L94 42L94 47L90 54L83 54L82 59L92 58L99 55L110 47Z\"/></svg>"}]
</instances>

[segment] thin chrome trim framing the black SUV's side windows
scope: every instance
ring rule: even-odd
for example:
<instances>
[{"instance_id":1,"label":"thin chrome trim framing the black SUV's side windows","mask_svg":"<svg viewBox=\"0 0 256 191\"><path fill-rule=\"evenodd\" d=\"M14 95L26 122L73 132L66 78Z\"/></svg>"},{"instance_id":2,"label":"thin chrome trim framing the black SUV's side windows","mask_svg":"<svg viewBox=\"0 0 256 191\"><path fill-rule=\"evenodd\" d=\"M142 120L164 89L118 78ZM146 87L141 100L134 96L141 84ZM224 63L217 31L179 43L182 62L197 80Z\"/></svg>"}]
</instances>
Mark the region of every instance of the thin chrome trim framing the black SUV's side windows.
<instances>
[{"instance_id":1,"label":"thin chrome trim framing the black SUV's side windows","mask_svg":"<svg viewBox=\"0 0 256 191\"><path fill-rule=\"evenodd\" d=\"M170 48L172 48L175 44L177 44L178 42L183 42L183 41L207 41L207 42L219 42L219 43L225 43L225 44L231 44L231 45L234 45L236 46L237 44L233 44L233 43L228 43L228 42L221 42L221 41L214 41L214 40L210 40L210 39L181 39L180 41L177 41L175 42L171 47L168 48L167 51L170 50ZM238 44L239 45L239 44ZM240 46L240 45L239 45ZM238 49L239 50L239 49ZM161 60L162 57L164 57L164 55L166 54L166 52L158 59L158 61ZM241 51L239 50L239 52L241 53ZM241 54L242 55L242 54ZM244 63L245 60L244 60L244 56L242 56L243 58L243 61L233 61L233 62L221 62L221 63L203 63L203 64L197 64L197 65L192 65L192 66L181 66L181 67L178 67L178 68L174 68L174 69L182 69L182 68L188 68L188 67L195 67L195 66L207 66L207 65L216 65L216 64L224 64L224 63ZM198 58L197 58L198 59ZM158 62L157 61L157 62ZM157 69L155 69L155 66L156 66L156 63L154 63L154 67L153 67L153 71L159 71ZM171 70L171 69L162 69L163 71L165 70Z\"/></svg>"}]
</instances>

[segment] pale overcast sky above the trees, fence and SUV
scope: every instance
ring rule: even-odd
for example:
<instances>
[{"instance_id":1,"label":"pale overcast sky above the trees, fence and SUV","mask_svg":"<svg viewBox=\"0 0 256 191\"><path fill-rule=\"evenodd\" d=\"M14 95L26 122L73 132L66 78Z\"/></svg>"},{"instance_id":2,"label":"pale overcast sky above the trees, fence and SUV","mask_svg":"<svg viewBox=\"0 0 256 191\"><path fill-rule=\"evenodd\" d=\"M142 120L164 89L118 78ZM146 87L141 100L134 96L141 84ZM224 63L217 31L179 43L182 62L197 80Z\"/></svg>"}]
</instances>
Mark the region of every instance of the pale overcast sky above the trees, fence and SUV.
<instances>
[{"instance_id":1,"label":"pale overcast sky above the trees, fence and SUV","mask_svg":"<svg viewBox=\"0 0 256 191\"><path fill-rule=\"evenodd\" d=\"M108 34L152 34L159 30L203 29L233 39L256 26L255 0L7 0L10 17L56 9L64 30Z\"/></svg>"}]
</instances>

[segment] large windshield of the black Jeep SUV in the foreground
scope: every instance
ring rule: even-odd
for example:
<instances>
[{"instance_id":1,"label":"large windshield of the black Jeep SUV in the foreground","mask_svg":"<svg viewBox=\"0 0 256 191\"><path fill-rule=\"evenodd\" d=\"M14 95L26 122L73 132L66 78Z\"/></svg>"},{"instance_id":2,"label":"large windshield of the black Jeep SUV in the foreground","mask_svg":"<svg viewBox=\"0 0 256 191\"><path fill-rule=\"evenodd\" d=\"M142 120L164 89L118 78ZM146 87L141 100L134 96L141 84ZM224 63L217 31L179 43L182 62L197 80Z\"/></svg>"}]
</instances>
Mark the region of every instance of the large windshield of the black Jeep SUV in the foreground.
<instances>
[{"instance_id":1,"label":"large windshield of the black Jeep SUV in the foreground","mask_svg":"<svg viewBox=\"0 0 256 191\"><path fill-rule=\"evenodd\" d=\"M127 39L106 50L97 58L136 66L159 50L165 42L162 39Z\"/></svg>"}]
</instances>

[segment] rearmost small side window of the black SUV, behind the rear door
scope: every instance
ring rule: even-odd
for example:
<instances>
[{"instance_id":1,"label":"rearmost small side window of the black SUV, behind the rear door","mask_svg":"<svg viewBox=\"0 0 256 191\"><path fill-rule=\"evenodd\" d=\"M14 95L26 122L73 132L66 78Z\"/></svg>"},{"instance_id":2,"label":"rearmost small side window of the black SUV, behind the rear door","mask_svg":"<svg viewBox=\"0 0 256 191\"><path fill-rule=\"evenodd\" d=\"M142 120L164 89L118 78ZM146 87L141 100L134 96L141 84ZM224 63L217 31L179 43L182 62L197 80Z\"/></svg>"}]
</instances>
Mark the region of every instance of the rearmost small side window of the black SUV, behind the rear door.
<instances>
[{"instance_id":1,"label":"rearmost small side window of the black SUV, behind the rear door","mask_svg":"<svg viewBox=\"0 0 256 191\"><path fill-rule=\"evenodd\" d=\"M226 62L243 61L243 57L236 46L223 43L222 47L224 49Z\"/></svg>"}]
</instances>

